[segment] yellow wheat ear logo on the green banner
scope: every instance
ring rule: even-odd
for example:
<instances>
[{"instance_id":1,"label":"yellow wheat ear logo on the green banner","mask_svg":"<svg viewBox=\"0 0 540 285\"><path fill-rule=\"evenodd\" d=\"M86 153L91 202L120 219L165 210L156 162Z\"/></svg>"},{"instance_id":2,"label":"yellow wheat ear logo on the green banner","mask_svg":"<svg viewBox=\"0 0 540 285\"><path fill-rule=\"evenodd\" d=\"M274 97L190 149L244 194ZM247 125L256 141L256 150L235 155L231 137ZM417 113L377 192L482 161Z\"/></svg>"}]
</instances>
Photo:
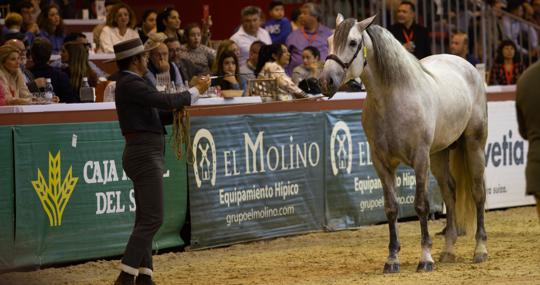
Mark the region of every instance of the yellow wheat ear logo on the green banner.
<instances>
[{"instance_id":1,"label":"yellow wheat ear logo on the green banner","mask_svg":"<svg viewBox=\"0 0 540 285\"><path fill-rule=\"evenodd\" d=\"M71 166L67 172L64 181L62 181L62 176L60 172L60 151L56 156L52 156L49 152L49 181L45 181L43 173L38 168L38 179L32 181L34 190L41 201L43 210L49 217L49 225L51 227L57 227L62 225L62 215L64 214L64 209L66 209L67 203L73 190L75 190L75 185L79 181L78 177L73 177Z\"/></svg>"}]
</instances>

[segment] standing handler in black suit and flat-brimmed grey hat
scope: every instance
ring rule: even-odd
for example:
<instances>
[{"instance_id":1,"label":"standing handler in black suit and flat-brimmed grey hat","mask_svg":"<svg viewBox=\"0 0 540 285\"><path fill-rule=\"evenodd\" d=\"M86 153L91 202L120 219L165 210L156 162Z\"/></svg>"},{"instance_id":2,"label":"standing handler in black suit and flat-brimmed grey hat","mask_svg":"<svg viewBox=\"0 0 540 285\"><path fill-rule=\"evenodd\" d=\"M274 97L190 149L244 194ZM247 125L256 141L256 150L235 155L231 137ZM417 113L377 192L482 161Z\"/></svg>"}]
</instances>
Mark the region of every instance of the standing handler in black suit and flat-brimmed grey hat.
<instances>
[{"instance_id":1,"label":"standing handler in black suit and flat-brimmed grey hat","mask_svg":"<svg viewBox=\"0 0 540 285\"><path fill-rule=\"evenodd\" d=\"M152 239L163 222L164 133L160 110L194 103L210 86L208 76L192 81L181 93L160 93L147 80L148 51L139 38L114 45L119 69L116 112L126 140L123 168L135 190L135 226L129 238L116 285L152 284ZM165 122L166 123L166 122ZM135 278L136 277L136 278ZM135 280L136 279L136 280Z\"/></svg>"}]
</instances>

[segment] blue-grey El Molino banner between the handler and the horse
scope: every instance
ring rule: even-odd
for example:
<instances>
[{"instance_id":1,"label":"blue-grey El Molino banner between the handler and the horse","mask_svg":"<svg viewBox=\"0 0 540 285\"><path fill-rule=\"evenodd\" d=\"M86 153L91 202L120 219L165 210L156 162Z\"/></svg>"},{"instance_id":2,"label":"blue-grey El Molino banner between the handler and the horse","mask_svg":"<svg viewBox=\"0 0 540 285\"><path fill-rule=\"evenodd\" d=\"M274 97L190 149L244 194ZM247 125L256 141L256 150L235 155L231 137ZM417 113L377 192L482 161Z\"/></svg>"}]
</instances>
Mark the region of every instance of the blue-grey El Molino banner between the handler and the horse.
<instances>
[{"instance_id":1,"label":"blue-grey El Molino banner between the handler and the horse","mask_svg":"<svg viewBox=\"0 0 540 285\"><path fill-rule=\"evenodd\" d=\"M321 230L323 135L322 113L192 118L192 247Z\"/></svg>"}]
</instances>

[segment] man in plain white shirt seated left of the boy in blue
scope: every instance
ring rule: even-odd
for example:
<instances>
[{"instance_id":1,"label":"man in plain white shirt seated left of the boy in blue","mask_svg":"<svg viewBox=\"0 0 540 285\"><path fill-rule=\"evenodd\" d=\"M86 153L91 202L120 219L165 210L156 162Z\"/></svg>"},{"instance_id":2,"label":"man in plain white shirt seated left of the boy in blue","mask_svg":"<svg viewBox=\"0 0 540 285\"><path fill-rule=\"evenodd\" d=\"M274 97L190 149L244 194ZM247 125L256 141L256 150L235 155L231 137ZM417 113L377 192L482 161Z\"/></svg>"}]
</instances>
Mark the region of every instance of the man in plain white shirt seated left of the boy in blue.
<instances>
[{"instance_id":1,"label":"man in plain white shirt seated left of the boy in blue","mask_svg":"<svg viewBox=\"0 0 540 285\"><path fill-rule=\"evenodd\" d=\"M249 47L254 41L262 41L265 44L271 44L270 34L261 28L261 8L256 6L247 6L242 9L242 26L231 36L231 40L236 43L240 49L238 62L245 64ZM218 54L219 56L219 54Z\"/></svg>"}]
</instances>

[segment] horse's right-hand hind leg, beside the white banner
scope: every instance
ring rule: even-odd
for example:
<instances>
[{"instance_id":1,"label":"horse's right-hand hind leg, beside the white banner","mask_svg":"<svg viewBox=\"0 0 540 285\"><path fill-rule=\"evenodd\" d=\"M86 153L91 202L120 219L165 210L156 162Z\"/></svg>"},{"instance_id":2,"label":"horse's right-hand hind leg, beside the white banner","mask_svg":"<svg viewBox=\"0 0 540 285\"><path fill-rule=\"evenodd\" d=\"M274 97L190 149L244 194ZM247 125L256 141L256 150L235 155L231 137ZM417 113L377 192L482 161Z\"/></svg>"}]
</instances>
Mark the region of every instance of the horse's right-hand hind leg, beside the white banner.
<instances>
[{"instance_id":1,"label":"horse's right-hand hind leg, beside the white banner","mask_svg":"<svg viewBox=\"0 0 540 285\"><path fill-rule=\"evenodd\" d=\"M475 263L484 262L488 258L487 234L484 227L484 207L486 203L484 143L478 137L482 136L470 136L465 139L467 164L472 178L472 194L476 204L476 248L473 258Z\"/></svg>"}]
</instances>

